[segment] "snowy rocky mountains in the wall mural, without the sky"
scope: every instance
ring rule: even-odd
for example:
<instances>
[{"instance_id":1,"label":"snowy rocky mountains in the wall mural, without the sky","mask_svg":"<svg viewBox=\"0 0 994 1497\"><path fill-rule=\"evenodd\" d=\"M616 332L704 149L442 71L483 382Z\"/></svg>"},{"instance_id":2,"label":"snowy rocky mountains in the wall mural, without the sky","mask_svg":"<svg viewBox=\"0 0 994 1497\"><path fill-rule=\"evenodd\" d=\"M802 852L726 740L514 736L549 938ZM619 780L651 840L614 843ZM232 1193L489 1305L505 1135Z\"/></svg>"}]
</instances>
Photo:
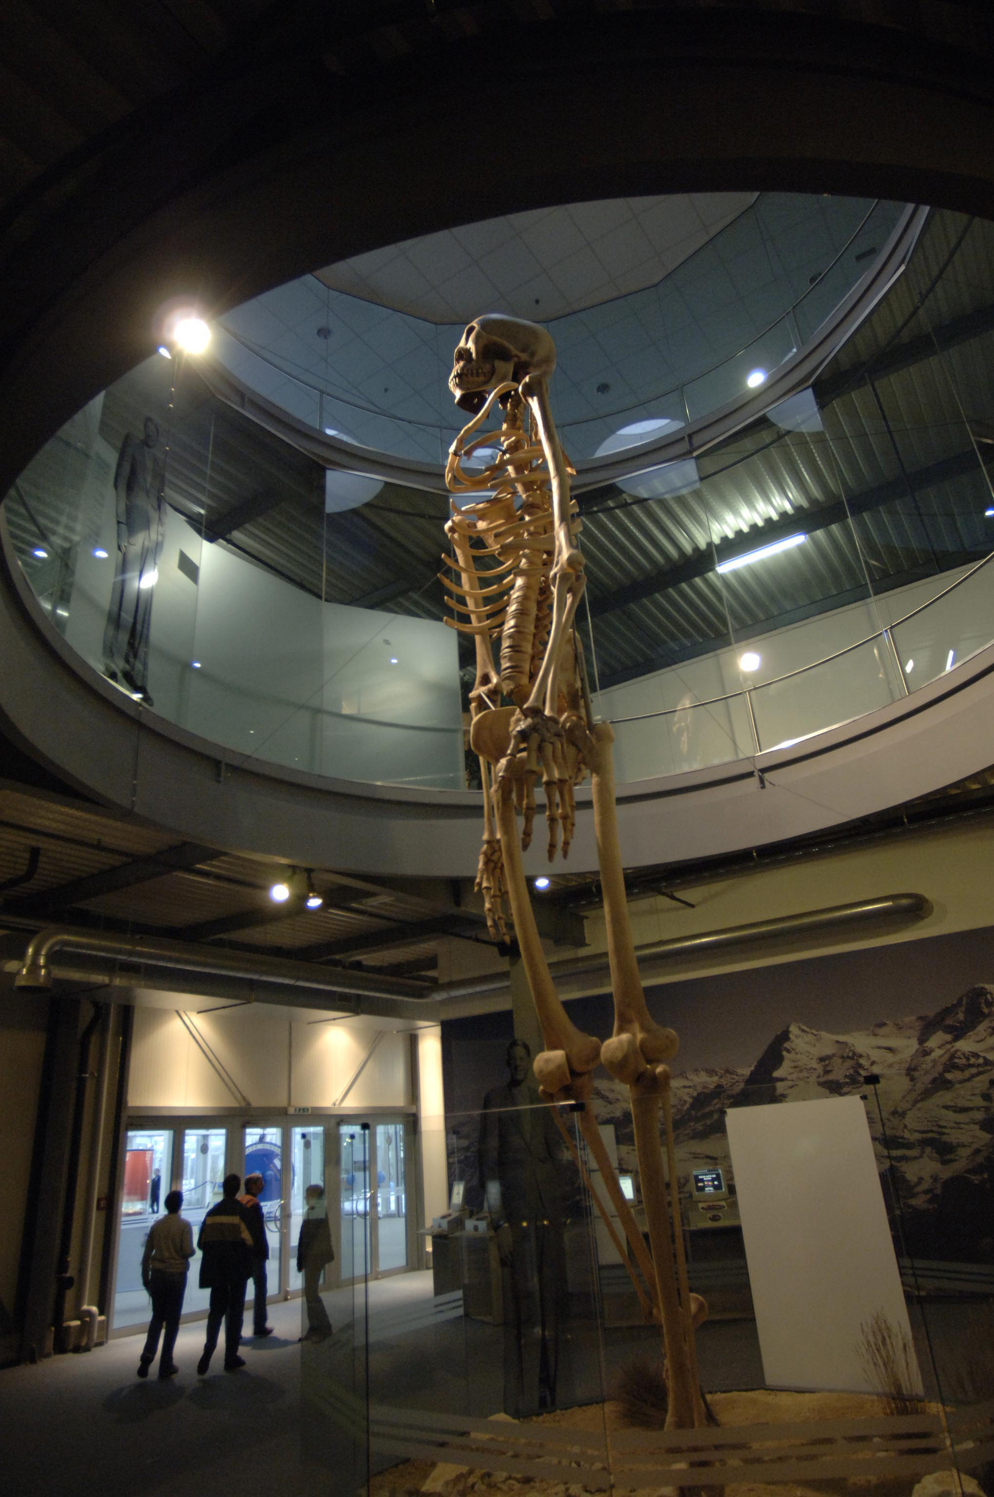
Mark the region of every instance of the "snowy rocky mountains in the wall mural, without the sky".
<instances>
[{"instance_id":1,"label":"snowy rocky mountains in the wall mural, without the sky","mask_svg":"<svg viewBox=\"0 0 994 1497\"><path fill-rule=\"evenodd\" d=\"M876 1075L876 1088L864 1078ZM847 1034L789 1024L751 1066L674 1076L678 1165L729 1171L725 1111L763 1102L862 1094L895 1232L910 1253L994 1260L994 988L976 985L931 1015ZM635 1171L627 1088L597 1072L594 1109L611 1123L618 1166ZM454 1169L475 1183L475 1120L452 1139ZM900 1222L894 1210L900 1201Z\"/></svg>"}]
</instances>

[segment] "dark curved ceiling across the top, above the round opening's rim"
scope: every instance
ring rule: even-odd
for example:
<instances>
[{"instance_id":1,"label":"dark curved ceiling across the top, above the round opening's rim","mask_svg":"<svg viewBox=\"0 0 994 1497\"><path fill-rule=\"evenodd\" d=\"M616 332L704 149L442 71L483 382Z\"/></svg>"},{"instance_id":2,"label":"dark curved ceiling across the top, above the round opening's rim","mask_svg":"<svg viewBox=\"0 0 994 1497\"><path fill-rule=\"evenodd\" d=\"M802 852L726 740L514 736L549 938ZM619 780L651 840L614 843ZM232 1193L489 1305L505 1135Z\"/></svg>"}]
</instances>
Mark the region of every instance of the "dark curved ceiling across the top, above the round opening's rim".
<instances>
[{"instance_id":1,"label":"dark curved ceiling across the top, above the round opening's rim","mask_svg":"<svg viewBox=\"0 0 994 1497\"><path fill-rule=\"evenodd\" d=\"M139 362L174 293L217 311L442 225L617 193L994 216L993 27L969 0L13 0L0 488ZM469 129L458 100L494 67Z\"/></svg>"}]
</instances>

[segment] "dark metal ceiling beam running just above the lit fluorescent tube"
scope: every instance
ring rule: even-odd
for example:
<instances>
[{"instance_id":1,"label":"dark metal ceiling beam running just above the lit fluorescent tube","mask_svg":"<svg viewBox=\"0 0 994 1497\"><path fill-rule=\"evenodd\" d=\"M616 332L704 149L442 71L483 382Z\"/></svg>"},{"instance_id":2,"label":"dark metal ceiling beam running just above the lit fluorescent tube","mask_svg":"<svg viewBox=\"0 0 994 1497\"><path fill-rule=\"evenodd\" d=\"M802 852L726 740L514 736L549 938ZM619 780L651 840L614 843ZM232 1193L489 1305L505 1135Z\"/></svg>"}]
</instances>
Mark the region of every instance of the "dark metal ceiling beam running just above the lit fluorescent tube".
<instances>
[{"instance_id":1,"label":"dark metal ceiling beam running just above the lit fluorescent tube","mask_svg":"<svg viewBox=\"0 0 994 1497\"><path fill-rule=\"evenodd\" d=\"M774 540L783 540L786 536L796 534L799 530L810 536L817 530L837 525L852 515L867 515L895 500L907 499L909 484L915 493L919 493L934 488L937 484L954 482L969 472L976 472L978 467L978 455L973 448L969 448L966 452L955 452L952 457L940 458L924 469L909 472L907 478L900 475L898 478L888 479L886 484L877 484L874 488L867 488L859 494L850 494L847 499L837 499L828 504L819 504L816 509L798 509L780 519L753 525L751 530L735 536L734 540L723 542L714 549L708 546L707 549L696 551L684 561L677 561L674 566L653 572L651 576L642 578L638 582L626 582L624 587L618 587L611 593L602 593L599 597L593 596L590 599L590 612L594 618L603 618L605 614L614 614L630 603L639 603L647 597L656 597L657 593L668 588L680 587L681 582L708 576L722 561L731 561L732 557L743 555L746 551L768 546Z\"/></svg>"}]
</instances>

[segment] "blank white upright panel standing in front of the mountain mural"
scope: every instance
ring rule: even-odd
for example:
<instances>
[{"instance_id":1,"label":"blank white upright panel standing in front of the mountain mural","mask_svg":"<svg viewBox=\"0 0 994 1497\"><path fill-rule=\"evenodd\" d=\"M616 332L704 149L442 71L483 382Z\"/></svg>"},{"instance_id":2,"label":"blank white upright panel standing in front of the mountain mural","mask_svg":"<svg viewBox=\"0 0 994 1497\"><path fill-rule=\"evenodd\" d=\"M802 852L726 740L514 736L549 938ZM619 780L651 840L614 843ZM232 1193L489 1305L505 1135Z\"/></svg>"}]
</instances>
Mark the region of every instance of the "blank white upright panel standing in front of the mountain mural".
<instances>
[{"instance_id":1,"label":"blank white upright panel standing in front of the mountain mural","mask_svg":"<svg viewBox=\"0 0 994 1497\"><path fill-rule=\"evenodd\" d=\"M766 1386L877 1391L861 1323L912 1331L862 1100L732 1108L726 1126Z\"/></svg>"}]
</instances>

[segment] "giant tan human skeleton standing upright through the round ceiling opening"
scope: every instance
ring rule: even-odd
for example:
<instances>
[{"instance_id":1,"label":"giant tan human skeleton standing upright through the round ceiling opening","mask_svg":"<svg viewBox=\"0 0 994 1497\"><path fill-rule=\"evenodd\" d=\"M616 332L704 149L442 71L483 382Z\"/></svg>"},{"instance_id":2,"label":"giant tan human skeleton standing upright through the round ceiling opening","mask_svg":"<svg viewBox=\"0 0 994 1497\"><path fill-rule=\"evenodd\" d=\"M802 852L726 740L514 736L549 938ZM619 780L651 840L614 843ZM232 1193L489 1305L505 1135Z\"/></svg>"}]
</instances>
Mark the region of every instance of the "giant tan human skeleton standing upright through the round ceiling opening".
<instances>
[{"instance_id":1,"label":"giant tan human skeleton standing upright through the round ceiling opening","mask_svg":"<svg viewBox=\"0 0 994 1497\"><path fill-rule=\"evenodd\" d=\"M570 499L573 470L549 409L554 368L555 346L543 328L488 314L466 328L449 377L457 404L473 418L452 443L446 467L454 496L446 525L452 554L445 557L449 570L442 581L455 614L446 623L472 635L476 645L470 743L481 759L485 804L478 889L494 936L507 936L507 916L513 922L542 1027L545 1049L534 1061L534 1073L543 1096L585 1103L579 1111L582 1136L627 1238L627 1253L617 1241L605 1204L594 1198L645 1311L662 1325L669 1380L666 1424L695 1428L705 1422L695 1329L707 1305L689 1292L680 1228L666 1064L678 1040L650 1016L635 960L618 846L614 734L608 723L593 720L582 644L575 629L584 558L576 543L578 507ZM482 470L479 458L473 464L475 454L488 460ZM460 503L458 496L481 491L490 497ZM491 645L497 638L498 662ZM504 698L512 705L503 705ZM614 1034L603 1045L581 1033L560 1001L521 859L531 840L537 778L545 793L552 861L557 846L561 844L563 856L569 852L573 787L587 771L615 1013ZM588 1105L599 1061L629 1087L651 1256ZM584 1162L579 1157L576 1162L585 1172Z\"/></svg>"}]
</instances>

